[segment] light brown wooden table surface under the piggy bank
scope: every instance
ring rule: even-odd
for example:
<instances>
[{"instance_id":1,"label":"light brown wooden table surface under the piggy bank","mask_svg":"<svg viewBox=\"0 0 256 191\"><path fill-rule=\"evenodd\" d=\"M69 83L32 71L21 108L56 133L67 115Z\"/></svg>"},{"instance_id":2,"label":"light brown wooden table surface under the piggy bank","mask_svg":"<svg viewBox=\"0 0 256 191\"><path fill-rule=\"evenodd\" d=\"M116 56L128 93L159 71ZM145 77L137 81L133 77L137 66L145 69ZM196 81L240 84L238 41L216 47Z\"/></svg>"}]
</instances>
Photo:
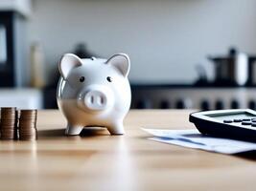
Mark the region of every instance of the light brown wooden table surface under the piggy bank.
<instances>
[{"instance_id":1,"label":"light brown wooden table surface under the piggy bank","mask_svg":"<svg viewBox=\"0 0 256 191\"><path fill-rule=\"evenodd\" d=\"M256 158L149 140L141 127L195 128L190 111L130 111L125 136L65 137L65 118L39 111L38 140L0 141L1 190L255 190Z\"/></svg>"}]
</instances>

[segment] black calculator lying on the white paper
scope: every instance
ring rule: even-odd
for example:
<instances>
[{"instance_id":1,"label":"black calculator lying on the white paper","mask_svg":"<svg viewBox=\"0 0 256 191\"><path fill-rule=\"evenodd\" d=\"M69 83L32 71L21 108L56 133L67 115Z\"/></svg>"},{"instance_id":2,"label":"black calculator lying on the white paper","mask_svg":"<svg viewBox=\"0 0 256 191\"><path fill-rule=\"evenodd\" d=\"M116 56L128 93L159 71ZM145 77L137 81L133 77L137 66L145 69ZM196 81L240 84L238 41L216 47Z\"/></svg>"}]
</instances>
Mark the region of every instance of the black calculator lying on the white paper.
<instances>
[{"instance_id":1,"label":"black calculator lying on the white paper","mask_svg":"<svg viewBox=\"0 0 256 191\"><path fill-rule=\"evenodd\" d=\"M189 121L203 135L256 142L256 112L250 109L196 112Z\"/></svg>"}]
</instances>

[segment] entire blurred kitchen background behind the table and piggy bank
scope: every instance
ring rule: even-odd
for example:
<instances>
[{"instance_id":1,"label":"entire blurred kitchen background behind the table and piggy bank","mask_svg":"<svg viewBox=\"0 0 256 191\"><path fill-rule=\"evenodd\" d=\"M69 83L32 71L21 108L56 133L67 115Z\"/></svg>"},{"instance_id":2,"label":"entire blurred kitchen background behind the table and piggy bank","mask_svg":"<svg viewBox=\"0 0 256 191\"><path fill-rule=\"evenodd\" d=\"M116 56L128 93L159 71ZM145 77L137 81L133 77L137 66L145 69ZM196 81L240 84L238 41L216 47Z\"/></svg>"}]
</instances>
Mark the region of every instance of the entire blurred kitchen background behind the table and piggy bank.
<instances>
[{"instance_id":1,"label":"entire blurred kitchen background behind the table and piggy bank","mask_svg":"<svg viewBox=\"0 0 256 191\"><path fill-rule=\"evenodd\" d=\"M1 106L57 108L63 53L128 53L132 108L256 109L255 0L0 1Z\"/></svg>"}]
</instances>

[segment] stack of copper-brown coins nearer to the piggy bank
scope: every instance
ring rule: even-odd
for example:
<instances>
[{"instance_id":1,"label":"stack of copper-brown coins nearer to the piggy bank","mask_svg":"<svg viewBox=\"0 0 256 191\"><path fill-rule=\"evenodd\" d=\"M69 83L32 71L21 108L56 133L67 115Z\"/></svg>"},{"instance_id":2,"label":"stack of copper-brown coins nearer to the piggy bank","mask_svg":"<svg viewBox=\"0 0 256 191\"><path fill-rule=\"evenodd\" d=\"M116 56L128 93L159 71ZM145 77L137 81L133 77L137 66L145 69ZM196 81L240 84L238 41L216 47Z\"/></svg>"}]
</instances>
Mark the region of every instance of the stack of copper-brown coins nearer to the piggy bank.
<instances>
[{"instance_id":1,"label":"stack of copper-brown coins nearer to the piggy bank","mask_svg":"<svg viewBox=\"0 0 256 191\"><path fill-rule=\"evenodd\" d=\"M36 116L37 110L20 110L19 139L34 140L37 138Z\"/></svg>"}]
</instances>

